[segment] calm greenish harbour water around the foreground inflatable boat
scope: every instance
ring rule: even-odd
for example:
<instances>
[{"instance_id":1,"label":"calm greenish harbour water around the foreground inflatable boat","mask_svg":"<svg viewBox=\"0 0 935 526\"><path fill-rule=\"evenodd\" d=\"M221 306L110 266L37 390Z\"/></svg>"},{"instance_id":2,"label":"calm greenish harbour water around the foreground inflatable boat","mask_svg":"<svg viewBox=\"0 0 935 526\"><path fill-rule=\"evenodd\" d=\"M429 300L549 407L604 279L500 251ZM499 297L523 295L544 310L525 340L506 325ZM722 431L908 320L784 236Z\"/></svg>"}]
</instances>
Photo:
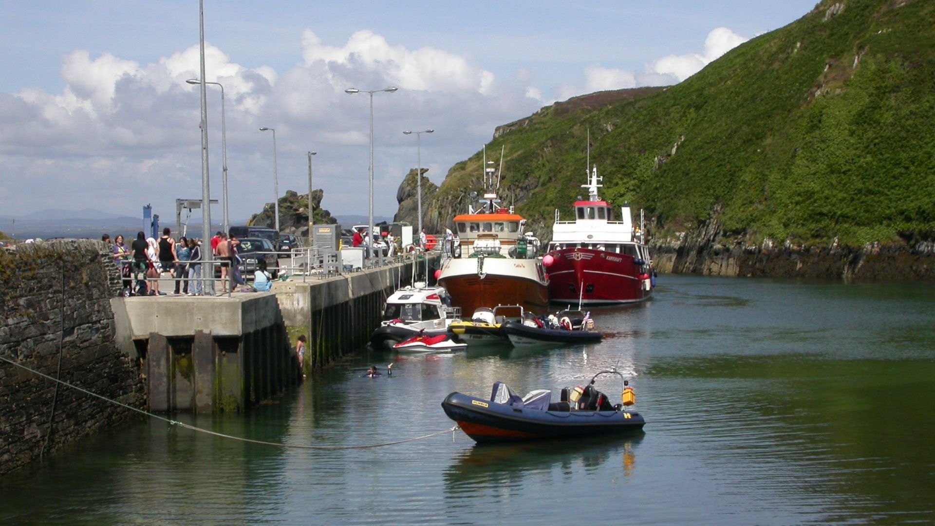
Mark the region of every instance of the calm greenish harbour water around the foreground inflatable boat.
<instances>
[{"instance_id":1,"label":"calm greenish harbour water around the foreground inflatable boat","mask_svg":"<svg viewBox=\"0 0 935 526\"><path fill-rule=\"evenodd\" d=\"M935 284L660 276L602 343L365 354L245 415L140 420L0 479L0 523L935 522ZM392 376L385 366L393 363ZM364 376L375 364L380 378ZM475 446L441 400L616 367L643 433ZM619 381L598 382L619 400Z\"/></svg>"}]
</instances>

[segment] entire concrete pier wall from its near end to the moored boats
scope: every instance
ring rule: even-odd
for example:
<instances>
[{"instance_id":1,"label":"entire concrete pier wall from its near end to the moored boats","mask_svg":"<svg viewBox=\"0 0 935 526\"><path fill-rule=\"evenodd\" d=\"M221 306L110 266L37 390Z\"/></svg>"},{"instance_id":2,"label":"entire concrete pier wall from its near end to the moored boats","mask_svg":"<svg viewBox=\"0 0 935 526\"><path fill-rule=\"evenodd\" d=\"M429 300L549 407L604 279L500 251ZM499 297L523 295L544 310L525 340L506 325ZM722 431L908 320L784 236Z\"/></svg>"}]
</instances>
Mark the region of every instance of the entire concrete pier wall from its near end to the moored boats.
<instances>
[{"instance_id":1,"label":"entire concrete pier wall from its near end to the moored boats","mask_svg":"<svg viewBox=\"0 0 935 526\"><path fill-rule=\"evenodd\" d=\"M415 270L424 277L424 259ZM293 276L274 282L271 292L229 298L115 298L116 341L142 360L151 411L243 411L299 381L287 327L307 335L304 373L311 373L362 350L380 326L387 296L409 285L412 272L411 262L397 263Z\"/></svg>"}]
</instances>

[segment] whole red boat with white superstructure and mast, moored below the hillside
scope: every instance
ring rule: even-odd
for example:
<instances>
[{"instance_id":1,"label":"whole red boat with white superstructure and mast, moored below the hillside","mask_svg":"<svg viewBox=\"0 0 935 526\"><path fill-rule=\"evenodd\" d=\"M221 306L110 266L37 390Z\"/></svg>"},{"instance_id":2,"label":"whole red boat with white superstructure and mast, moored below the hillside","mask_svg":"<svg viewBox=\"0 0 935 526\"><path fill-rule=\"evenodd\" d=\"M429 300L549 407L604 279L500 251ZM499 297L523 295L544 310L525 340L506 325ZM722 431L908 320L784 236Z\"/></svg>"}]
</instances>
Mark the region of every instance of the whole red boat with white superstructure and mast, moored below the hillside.
<instances>
[{"instance_id":1,"label":"whole red boat with white superstructure and mast, moored below the hillside","mask_svg":"<svg viewBox=\"0 0 935 526\"><path fill-rule=\"evenodd\" d=\"M597 197L601 180L595 167L582 184L588 198L575 202L574 221L560 221L555 211L549 253L542 258L554 302L633 303L653 294L653 262L642 229L634 228L628 205L617 219L611 204Z\"/></svg>"}]
</instances>

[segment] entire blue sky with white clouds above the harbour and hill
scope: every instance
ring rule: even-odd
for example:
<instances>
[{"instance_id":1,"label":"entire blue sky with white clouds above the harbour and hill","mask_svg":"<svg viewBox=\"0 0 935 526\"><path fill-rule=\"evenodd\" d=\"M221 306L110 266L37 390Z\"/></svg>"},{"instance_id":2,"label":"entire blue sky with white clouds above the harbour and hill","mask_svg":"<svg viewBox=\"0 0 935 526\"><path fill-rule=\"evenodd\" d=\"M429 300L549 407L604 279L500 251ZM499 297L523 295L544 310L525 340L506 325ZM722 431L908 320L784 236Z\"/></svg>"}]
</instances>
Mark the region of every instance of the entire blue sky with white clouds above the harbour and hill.
<instances>
[{"instance_id":1,"label":"entire blue sky with white clouds above the harbour and hill","mask_svg":"<svg viewBox=\"0 0 935 526\"><path fill-rule=\"evenodd\" d=\"M670 85L816 0L578 3L205 0L206 77L223 84L231 221L324 189L374 214L421 156L441 183L499 124L600 90ZM0 0L0 216L98 209L170 217L201 198L197 0ZM223 198L221 94L209 85L211 198ZM416 136L405 130L434 129ZM509 148L509 144L507 144ZM221 217L212 208L212 220ZM3 224L0 223L0 227Z\"/></svg>"}]
</instances>

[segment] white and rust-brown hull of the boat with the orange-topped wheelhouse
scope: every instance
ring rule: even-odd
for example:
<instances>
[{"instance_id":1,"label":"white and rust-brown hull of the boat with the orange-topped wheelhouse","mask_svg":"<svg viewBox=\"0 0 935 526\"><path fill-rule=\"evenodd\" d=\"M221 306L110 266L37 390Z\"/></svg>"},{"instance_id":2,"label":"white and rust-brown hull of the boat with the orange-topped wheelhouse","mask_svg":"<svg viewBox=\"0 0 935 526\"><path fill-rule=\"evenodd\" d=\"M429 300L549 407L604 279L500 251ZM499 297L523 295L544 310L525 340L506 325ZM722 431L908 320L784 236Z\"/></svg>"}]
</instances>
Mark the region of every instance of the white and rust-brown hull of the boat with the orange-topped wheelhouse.
<instances>
[{"instance_id":1,"label":"white and rust-brown hull of the boat with the orange-topped wheelhouse","mask_svg":"<svg viewBox=\"0 0 935 526\"><path fill-rule=\"evenodd\" d=\"M439 285L462 313L517 304L534 314L549 310L549 286L540 259L484 259L450 259L441 270Z\"/></svg>"}]
</instances>

